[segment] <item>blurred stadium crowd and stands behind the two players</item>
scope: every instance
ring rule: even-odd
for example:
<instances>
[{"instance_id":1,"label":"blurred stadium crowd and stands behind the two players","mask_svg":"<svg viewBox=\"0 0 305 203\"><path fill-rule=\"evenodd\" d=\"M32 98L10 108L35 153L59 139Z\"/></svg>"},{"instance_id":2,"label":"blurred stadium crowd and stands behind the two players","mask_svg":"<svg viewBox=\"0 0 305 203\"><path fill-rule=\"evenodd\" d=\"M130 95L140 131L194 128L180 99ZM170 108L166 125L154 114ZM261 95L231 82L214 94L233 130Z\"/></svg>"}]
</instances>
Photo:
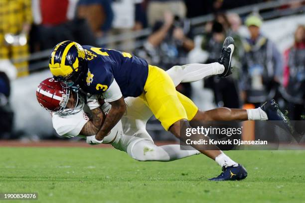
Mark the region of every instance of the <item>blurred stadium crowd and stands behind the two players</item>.
<instances>
[{"instance_id":1,"label":"blurred stadium crowd and stands behind the two players","mask_svg":"<svg viewBox=\"0 0 305 203\"><path fill-rule=\"evenodd\" d=\"M232 77L177 90L204 110L276 98L292 120L304 120L304 8L305 0L0 0L0 138L58 138L35 91L63 40L131 52L167 70L217 60L233 36ZM155 140L173 139L153 118L147 128Z\"/></svg>"}]
</instances>

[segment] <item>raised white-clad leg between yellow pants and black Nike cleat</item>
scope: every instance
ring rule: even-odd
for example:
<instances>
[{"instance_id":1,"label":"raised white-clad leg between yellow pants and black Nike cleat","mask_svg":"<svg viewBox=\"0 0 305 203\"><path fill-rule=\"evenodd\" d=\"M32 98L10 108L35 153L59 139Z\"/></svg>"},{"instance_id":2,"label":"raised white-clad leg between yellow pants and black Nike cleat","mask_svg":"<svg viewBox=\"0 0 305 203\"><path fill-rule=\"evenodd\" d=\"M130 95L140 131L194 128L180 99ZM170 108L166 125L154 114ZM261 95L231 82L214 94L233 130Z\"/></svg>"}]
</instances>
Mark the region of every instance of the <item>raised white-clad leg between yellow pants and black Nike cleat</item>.
<instances>
[{"instance_id":1,"label":"raised white-clad leg between yellow pants and black Nike cleat","mask_svg":"<svg viewBox=\"0 0 305 203\"><path fill-rule=\"evenodd\" d=\"M207 76L222 74L224 66L217 62L211 64L186 64L183 66L173 66L166 72L175 86L177 86L179 83L195 82Z\"/></svg>"}]
</instances>

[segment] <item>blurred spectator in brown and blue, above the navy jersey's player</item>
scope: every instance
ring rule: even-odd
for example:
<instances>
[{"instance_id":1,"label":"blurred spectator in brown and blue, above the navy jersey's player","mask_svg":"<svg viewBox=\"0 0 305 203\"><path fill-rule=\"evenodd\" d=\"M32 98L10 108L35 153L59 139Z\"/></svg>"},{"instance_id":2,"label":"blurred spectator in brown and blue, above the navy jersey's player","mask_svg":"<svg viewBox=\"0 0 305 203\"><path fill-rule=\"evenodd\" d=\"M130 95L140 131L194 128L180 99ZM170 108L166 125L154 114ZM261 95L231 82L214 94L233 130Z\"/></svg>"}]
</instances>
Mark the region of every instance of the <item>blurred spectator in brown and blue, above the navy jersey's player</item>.
<instances>
[{"instance_id":1,"label":"blurred spectator in brown and blue, above the navy jersey's player","mask_svg":"<svg viewBox=\"0 0 305 203\"><path fill-rule=\"evenodd\" d=\"M77 13L88 21L96 37L107 34L114 17L111 0L79 0Z\"/></svg>"}]
</instances>

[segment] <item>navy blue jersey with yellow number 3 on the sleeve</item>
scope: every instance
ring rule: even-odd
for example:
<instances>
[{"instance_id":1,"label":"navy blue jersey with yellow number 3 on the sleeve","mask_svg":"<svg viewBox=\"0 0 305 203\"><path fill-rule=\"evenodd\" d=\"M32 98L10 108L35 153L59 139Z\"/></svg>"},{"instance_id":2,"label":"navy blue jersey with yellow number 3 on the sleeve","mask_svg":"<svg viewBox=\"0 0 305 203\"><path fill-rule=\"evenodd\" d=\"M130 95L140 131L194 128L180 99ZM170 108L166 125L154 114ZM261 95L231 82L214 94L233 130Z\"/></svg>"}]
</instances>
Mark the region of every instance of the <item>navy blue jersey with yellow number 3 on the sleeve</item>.
<instances>
[{"instance_id":1,"label":"navy blue jersey with yellow number 3 on the sleeve","mask_svg":"<svg viewBox=\"0 0 305 203\"><path fill-rule=\"evenodd\" d=\"M138 97L148 77L146 60L117 50L83 46L87 53L88 74L82 84L90 94L102 94L115 79L124 97Z\"/></svg>"}]
</instances>

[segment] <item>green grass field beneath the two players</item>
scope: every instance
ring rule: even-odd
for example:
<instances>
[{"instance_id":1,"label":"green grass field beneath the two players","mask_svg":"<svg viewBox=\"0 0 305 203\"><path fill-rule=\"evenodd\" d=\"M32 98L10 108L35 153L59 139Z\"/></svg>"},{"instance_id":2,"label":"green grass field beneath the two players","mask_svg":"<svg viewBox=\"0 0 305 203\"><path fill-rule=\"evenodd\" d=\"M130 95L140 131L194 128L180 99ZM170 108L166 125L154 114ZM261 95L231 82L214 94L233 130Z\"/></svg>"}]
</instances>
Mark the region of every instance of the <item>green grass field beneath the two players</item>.
<instances>
[{"instance_id":1,"label":"green grass field beneath the two players","mask_svg":"<svg viewBox=\"0 0 305 203\"><path fill-rule=\"evenodd\" d=\"M37 192L41 203L305 202L305 151L227 154L246 167L246 180L207 181L221 170L202 155L160 163L109 148L4 147L0 192Z\"/></svg>"}]
</instances>

